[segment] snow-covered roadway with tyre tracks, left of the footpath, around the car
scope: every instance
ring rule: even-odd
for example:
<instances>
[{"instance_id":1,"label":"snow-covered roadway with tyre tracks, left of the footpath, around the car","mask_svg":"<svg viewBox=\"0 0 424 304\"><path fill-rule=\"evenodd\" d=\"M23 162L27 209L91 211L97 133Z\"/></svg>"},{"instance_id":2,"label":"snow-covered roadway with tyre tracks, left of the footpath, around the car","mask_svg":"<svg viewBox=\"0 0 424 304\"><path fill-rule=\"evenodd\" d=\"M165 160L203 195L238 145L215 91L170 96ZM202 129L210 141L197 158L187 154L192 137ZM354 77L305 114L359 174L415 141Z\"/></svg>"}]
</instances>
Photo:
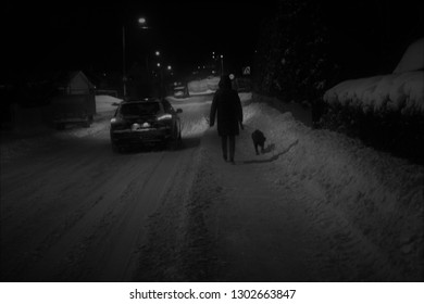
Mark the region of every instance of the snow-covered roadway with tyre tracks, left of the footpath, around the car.
<instances>
[{"instance_id":1,"label":"snow-covered roadway with tyre tracks, left of the footpath, around the car","mask_svg":"<svg viewBox=\"0 0 424 304\"><path fill-rule=\"evenodd\" d=\"M185 177L208 106L179 106L186 130L178 151L115 154L103 118L90 129L50 138L48 149L3 162L2 279L132 280L149 216L169 193L189 188Z\"/></svg>"}]
</instances>

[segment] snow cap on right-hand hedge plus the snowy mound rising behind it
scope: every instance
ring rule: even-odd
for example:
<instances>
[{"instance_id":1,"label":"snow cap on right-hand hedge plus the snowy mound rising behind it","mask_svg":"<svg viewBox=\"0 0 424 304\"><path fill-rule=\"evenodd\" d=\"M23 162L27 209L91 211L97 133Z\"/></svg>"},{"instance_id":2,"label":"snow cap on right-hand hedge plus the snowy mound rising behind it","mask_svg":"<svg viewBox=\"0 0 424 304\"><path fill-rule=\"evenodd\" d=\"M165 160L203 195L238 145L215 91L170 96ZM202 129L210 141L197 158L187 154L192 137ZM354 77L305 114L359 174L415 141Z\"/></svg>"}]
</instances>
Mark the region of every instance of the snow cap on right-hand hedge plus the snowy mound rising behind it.
<instances>
[{"instance_id":1,"label":"snow cap on right-hand hedge plus the snowy mound rising behind it","mask_svg":"<svg viewBox=\"0 0 424 304\"><path fill-rule=\"evenodd\" d=\"M392 74L346 80L324 94L331 106L349 106L363 113L424 114L424 38L406 50Z\"/></svg>"}]
</instances>

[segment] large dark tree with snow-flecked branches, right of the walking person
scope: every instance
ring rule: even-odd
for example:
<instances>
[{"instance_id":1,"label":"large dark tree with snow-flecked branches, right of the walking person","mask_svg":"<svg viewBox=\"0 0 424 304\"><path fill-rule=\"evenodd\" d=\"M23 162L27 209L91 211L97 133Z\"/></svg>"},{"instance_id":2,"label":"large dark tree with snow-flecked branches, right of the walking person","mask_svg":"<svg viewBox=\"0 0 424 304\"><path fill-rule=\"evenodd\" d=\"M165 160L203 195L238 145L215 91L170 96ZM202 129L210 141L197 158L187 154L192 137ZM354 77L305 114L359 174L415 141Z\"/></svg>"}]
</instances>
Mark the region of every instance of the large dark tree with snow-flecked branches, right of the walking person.
<instances>
[{"instance_id":1,"label":"large dark tree with snow-flecked branches, right of the walking person","mask_svg":"<svg viewBox=\"0 0 424 304\"><path fill-rule=\"evenodd\" d=\"M259 39L255 88L284 101L314 103L326 87L326 28L314 1L280 0Z\"/></svg>"}]
</instances>

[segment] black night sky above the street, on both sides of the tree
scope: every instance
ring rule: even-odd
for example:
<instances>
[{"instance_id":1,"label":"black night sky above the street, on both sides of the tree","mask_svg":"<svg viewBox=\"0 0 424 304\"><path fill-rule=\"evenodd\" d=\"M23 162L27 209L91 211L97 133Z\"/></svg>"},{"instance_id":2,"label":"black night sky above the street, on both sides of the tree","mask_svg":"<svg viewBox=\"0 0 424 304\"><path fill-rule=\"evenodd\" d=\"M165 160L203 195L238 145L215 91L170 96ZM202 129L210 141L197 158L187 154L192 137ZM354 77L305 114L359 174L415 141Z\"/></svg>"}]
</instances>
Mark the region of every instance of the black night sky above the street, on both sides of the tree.
<instances>
[{"instance_id":1,"label":"black night sky above the street, on both sides of the tree","mask_svg":"<svg viewBox=\"0 0 424 304\"><path fill-rule=\"evenodd\" d=\"M207 63L212 51L241 61L255 49L261 21L276 8L276 1L105 2L10 1L1 21L2 79L54 68L120 72L123 25L127 65L157 49L176 71ZM419 2L323 1L334 60L348 68L367 65L359 74L390 73L411 40L423 34ZM140 16L148 20L149 30L137 28Z\"/></svg>"}]
</instances>

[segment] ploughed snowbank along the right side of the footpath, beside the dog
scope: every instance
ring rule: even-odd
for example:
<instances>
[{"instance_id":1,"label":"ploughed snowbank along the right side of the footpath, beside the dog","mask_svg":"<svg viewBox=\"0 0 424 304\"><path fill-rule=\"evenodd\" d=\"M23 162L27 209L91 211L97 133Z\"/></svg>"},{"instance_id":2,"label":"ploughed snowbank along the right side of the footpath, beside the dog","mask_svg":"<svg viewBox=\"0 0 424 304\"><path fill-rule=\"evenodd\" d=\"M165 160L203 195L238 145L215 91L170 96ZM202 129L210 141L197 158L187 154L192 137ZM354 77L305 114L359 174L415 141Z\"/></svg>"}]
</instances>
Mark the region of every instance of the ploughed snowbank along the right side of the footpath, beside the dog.
<instances>
[{"instance_id":1,"label":"ploughed snowbank along the right side of the footpath, beside the dog","mask_svg":"<svg viewBox=\"0 0 424 304\"><path fill-rule=\"evenodd\" d=\"M246 105L244 114L246 130L237 139L237 151L252 150L247 132L259 128L267 138L267 153L251 161L251 154L246 159L240 151L238 163L270 164L258 168L276 189L297 185L294 190L307 204L341 214L390 264L389 270L382 270L389 274L385 280L423 280L424 167L344 135L313 130L291 113L282 114L264 103ZM201 153L211 153L208 149L202 147ZM254 183L244 187L254 188Z\"/></svg>"}]
</instances>

